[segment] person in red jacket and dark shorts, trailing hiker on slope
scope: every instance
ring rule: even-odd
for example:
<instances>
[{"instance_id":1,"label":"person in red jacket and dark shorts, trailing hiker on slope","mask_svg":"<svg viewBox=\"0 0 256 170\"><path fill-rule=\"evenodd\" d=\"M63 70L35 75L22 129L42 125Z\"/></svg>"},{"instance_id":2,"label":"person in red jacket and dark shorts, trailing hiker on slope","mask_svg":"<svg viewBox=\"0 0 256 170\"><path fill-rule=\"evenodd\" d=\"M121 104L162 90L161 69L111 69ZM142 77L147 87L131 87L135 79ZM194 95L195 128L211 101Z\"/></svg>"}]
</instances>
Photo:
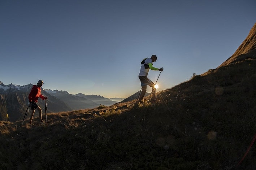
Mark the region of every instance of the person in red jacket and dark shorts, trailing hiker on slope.
<instances>
[{"instance_id":1,"label":"person in red jacket and dark shorts, trailing hiker on slope","mask_svg":"<svg viewBox=\"0 0 256 170\"><path fill-rule=\"evenodd\" d=\"M41 119L41 123L43 122L42 119L42 109L36 104L36 102L38 101L38 98L40 97L42 100L46 100L47 97L43 96L41 94L41 87L43 86L43 80L38 80L37 85L34 85L29 93L29 107L31 107L31 117L30 117L30 125L32 123L32 119L35 113L35 109L38 111L39 113L39 118Z\"/></svg>"}]
</instances>

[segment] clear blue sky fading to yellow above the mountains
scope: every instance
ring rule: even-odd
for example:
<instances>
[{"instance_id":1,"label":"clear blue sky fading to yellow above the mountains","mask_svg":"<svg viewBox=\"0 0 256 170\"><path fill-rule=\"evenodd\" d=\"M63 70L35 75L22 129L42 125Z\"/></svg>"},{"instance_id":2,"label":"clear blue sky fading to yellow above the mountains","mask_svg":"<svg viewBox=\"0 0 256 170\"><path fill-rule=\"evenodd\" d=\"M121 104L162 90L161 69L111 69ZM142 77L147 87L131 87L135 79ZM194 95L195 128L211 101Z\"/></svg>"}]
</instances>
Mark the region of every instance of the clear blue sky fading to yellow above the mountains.
<instances>
[{"instance_id":1,"label":"clear blue sky fading to yellow above the mountains","mask_svg":"<svg viewBox=\"0 0 256 170\"><path fill-rule=\"evenodd\" d=\"M255 0L0 0L0 81L125 98L155 54L165 90L229 58L255 9Z\"/></svg>"}]
</instances>

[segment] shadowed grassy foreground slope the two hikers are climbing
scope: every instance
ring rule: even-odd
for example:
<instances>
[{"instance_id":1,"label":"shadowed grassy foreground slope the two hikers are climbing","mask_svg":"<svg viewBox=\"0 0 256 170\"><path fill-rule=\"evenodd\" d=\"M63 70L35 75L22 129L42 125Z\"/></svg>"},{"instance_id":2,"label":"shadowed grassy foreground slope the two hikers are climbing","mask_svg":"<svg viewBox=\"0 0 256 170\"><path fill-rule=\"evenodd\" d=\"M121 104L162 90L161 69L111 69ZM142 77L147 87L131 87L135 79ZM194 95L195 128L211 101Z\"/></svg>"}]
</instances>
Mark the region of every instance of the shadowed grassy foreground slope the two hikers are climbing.
<instances>
[{"instance_id":1,"label":"shadowed grassy foreground slope the two hikers are climbing","mask_svg":"<svg viewBox=\"0 0 256 170\"><path fill-rule=\"evenodd\" d=\"M249 65L250 64L250 65ZM256 169L256 61L194 75L146 100L0 123L0 169ZM35 113L37 116L37 113Z\"/></svg>"}]
</instances>

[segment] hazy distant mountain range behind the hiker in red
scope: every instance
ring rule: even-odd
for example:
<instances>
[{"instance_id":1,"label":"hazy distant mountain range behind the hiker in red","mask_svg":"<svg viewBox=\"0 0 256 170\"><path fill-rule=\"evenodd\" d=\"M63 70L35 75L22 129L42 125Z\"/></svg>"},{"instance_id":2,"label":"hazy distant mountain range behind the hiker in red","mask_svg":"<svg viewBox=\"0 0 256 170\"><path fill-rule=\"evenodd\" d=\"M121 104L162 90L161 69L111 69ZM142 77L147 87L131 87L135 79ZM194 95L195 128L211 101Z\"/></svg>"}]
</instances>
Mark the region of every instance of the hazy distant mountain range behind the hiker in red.
<instances>
[{"instance_id":1,"label":"hazy distant mountain range behind the hiker in red","mask_svg":"<svg viewBox=\"0 0 256 170\"><path fill-rule=\"evenodd\" d=\"M24 86L16 84L5 85L0 81L0 120L5 120L8 114L9 121L17 121L23 118L29 104L28 95L33 84ZM103 96L76 95L67 91L49 90L41 88L41 93L48 96L47 112L65 112L79 109L92 109L100 105L110 106L118 101L113 101ZM122 100L122 99L119 99ZM38 100L39 106L44 108L44 101Z\"/></svg>"}]
</instances>

